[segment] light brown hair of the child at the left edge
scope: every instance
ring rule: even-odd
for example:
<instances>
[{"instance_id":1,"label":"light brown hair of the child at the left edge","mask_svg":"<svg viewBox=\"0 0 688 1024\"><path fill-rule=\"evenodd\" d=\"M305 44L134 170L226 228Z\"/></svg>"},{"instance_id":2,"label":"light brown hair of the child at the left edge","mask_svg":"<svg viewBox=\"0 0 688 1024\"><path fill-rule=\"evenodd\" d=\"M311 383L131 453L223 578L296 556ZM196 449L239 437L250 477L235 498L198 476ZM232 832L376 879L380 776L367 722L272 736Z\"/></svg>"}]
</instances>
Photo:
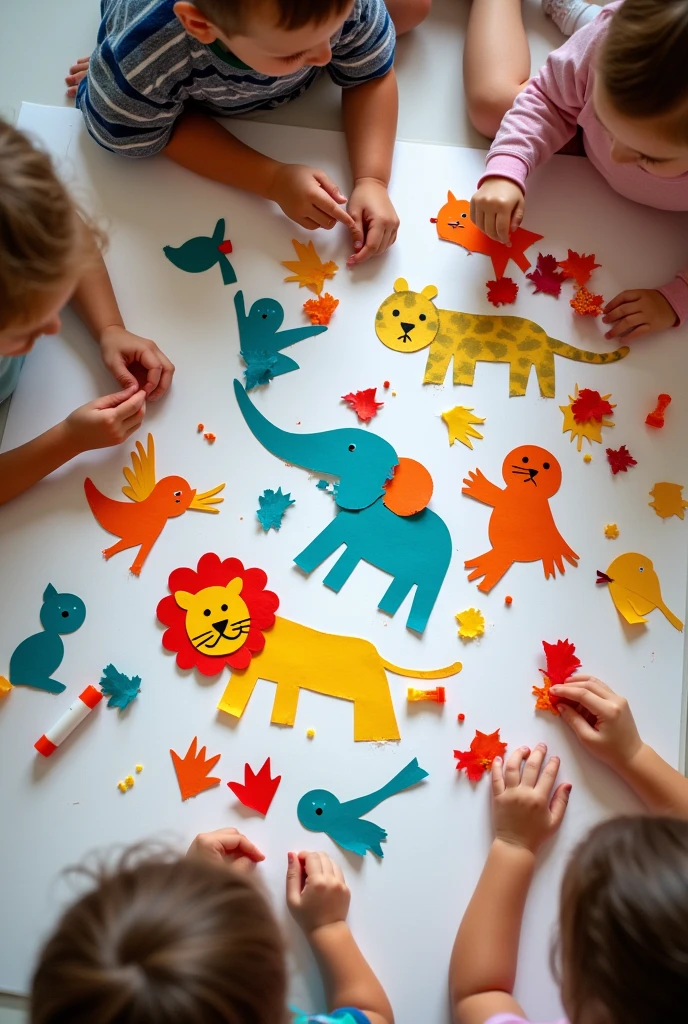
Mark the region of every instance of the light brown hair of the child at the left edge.
<instances>
[{"instance_id":1,"label":"light brown hair of the child at the left edge","mask_svg":"<svg viewBox=\"0 0 688 1024\"><path fill-rule=\"evenodd\" d=\"M0 120L0 328L78 271L101 236L84 225L47 153Z\"/></svg>"}]
</instances>

